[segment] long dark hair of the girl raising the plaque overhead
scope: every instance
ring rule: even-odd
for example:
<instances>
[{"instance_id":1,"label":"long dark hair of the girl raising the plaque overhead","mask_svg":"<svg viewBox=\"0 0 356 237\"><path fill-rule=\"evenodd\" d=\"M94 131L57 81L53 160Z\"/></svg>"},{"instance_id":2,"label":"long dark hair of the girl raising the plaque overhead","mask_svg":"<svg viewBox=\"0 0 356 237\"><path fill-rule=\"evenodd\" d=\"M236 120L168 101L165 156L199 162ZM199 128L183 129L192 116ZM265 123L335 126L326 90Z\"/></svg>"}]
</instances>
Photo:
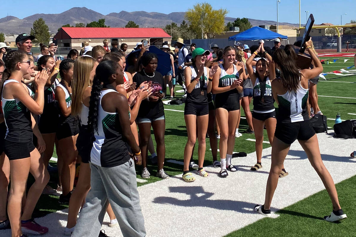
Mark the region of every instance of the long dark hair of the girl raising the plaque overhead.
<instances>
[{"instance_id":1,"label":"long dark hair of the girl raising the plaque overhead","mask_svg":"<svg viewBox=\"0 0 356 237\"><path fill-rule=\"evenodd\" d=\"M300 87L300 71L295 61L283 49L276 49L272 56L281 70L281 83L288 91L296 91Z\"/></svg>"}]
</instances>

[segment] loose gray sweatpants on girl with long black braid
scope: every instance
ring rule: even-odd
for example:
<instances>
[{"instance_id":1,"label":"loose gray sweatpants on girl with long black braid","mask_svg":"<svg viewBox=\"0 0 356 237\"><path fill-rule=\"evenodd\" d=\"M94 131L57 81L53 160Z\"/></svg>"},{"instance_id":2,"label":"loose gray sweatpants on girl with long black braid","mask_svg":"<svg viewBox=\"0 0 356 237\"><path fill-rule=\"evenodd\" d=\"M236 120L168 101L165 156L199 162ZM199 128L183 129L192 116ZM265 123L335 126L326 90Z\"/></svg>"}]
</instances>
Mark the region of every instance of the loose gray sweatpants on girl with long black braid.
<instances>
[{"instance_id":1,"label":"loose gray sweatpants on girl with long black braid","mask_svg":"<svg viewBox=\"0 0 356 237\"><path fill-rule=\"evenodd\" d=\"M72 237L98 237L110 201L124 237L145 237L133 161L105 168L90 163L91 189Z\"/></svg>"}]
</instances>

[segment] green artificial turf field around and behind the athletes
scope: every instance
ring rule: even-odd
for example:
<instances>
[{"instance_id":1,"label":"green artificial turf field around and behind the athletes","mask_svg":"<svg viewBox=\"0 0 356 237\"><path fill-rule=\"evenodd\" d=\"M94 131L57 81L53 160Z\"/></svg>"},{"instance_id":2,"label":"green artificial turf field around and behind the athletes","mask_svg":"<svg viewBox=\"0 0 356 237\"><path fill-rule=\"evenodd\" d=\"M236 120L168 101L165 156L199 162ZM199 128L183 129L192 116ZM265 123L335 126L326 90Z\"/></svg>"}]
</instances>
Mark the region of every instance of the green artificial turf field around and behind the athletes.
<instances>
[{"instance_id":1,"label":"green artificial turf field around and behind the athletes","mask_svg":"<svg viewBox=\"0 0 356 237\"><path fill-rule=\"evenodd\" d=\"M323 72L331 72L334 70L340 70L342 68L347 68L354 65L354 59L351 57L345 58L332 58L332 57L320 57L320 59L339 59L334 64L323 64ZM344 59L349 59L344 63ZM355 70L353 67L346 70ZM341 114L341 119L355 119L356 115L351 115L348 113L356 114L356 75L354 76L336 76L328 74L325 76L326 81L320 79L318 83L318 95L319 97L319 107L327 118L335 119L337 113ZM347 83L351 82L351 83ZM181 87L176 87L177 90L181 90ZM180 95L183 93L176 93L177 98L181 98ZM323 96L333 96L333 97L323 97ZM350 97L350 98L335 98L335 97ZM183 166L167 162L167 160L176 160L183 162L183 151L185 143L187 142L187 132L184 122L184 105L182 106L164 106L165 109L174 109L177 111L165 111L166 115L166 162L164 164L164 169L169 175L177 175L182 173ZM252 109L252 104L251 104ZM241 117L245 117L244 112L241 112ZM328 120L328 126L332 127L334 125L333 120ZM234 151L244 151L246 153L251 153L255 151L255 143L253 141L248 141L246 139L255 139L253 134L246 134L244 131L248 128L246 119L241 119L239 131L243 133L240 138L236 138ZM153 137L153 136L152 136ZM265 131L265 139L268 141L267 133ZM153 139L155 143L155 140ZM354 142L354 141L347 141ZM269 147L269 144L263 144L263 147ZM206 154L205 154L205 165L211 165L213 159L210 152L209 139L206 139ZM350 151L351 153L352 151ZM219 154L218 154L219 156ZM53 157L56 156L54 152ZM194 160L197 160L197 148L194 152ZM248 166L254 165L256 160L251 160L251 163L246 164ZM56 166L55 162L51 165ZM148 183L156 182L159 178L155 177L157 172L157 167L149 165L148 170L151 173L151 178L145 183L137 183L138 186L145 185ZM347 168L345 167L345 171ZM137 178L141 179L141 167L137 167ZM52 176L50 183L52 187L56 187L57 177ZM29 181L31 183L31 180ZM228 237L235 236L355 236L354 229L356 228L356 221L353 220L355 217L355 182L356 176L342 181L337 184L337 191L339 192L340 203L343 206L345 212L348 215L347 224L340 223L335 225L322 221L320 219L323 214L325 214L325 206L327 210L330 210L330 198L326 191L321 191L308 198L299 201L287 208L284 208L278 212L280 217L277 219L264 218L257 221L241 230L235 231L227 235ZM265 185L265 184L263 184ZM30 185L28 185L29 187ZM346 205L345 205L346 204ZM66 205L58 204L57 196L46 196L42 195L40 201L37 204L39 211L35 213L35 216L44 216L50 212L61 210L66 208ZM346 226L347 225L347 226ZM263 231L261 231L263 230ZM317 233L317 234L315 234Z\"/></svg>"}]
</instances>

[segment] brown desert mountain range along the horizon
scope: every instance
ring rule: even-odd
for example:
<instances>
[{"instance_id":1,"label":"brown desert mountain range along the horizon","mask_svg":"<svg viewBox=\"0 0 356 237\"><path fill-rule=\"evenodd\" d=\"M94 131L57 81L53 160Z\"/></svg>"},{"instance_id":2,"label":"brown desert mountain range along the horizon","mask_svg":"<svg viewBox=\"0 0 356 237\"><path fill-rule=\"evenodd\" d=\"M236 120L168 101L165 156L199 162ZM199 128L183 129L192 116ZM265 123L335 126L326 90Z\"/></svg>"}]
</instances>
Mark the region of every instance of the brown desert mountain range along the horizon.
<instances>
[{"instance_id":1,"label":"brown desert mountain range along the horizon","mask_svg":"<svg viewBox=\"0 0 356 237\"><path fill-rule=\"evenodd\" d=\"M140 27L164 27L172 22L180 25L184 19L185 12L172 12L163 14L159 12L145 11L120 11L119 13L112 12L108 15L100 14L99 12L90 10L86 7L73 7L59 14L34 14L23 19L15 16L6 16L0 18L0 32L5 34L10 33L30 33L33 22L38 18L45 20L49 31L57 33L57 29L63 25L70 24L74 26L76 23L87 24L92 21L98 21L105 18L105 25L110 27L125 27L127 22L134 21ZM225 17L226 22L233 22L236 18ZM275 21L262 21L256 19L248 19L252 26L259 25L275 25ZM299 26L287 22L279 22L279 25Z\"/></svg>"}]
</instances>

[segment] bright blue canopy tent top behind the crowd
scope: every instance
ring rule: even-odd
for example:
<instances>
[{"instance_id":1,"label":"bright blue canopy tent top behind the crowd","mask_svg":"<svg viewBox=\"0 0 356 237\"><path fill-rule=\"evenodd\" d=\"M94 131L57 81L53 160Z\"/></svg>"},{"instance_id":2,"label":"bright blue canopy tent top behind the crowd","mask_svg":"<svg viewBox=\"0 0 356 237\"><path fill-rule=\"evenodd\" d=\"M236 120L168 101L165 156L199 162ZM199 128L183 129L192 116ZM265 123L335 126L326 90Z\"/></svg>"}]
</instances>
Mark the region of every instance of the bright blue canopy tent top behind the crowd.
<instances>
[{"instance_id":1,"label":"bright blue canopy tent top behind the crowd","mask_svg":"<svg viewBox=\"0 0 356 237\"><path fill-rule=\"evenodd\" d=\"M244 32L239 34L235 34L234 36L229 37L229 41L255 41L255 40L273 40L275 38L288 39L288 36L283 36L282 34L278 34L276 32L270 31L268 29L264 29L258 26L247 29Z\"/></svg>"}]
</instances>

